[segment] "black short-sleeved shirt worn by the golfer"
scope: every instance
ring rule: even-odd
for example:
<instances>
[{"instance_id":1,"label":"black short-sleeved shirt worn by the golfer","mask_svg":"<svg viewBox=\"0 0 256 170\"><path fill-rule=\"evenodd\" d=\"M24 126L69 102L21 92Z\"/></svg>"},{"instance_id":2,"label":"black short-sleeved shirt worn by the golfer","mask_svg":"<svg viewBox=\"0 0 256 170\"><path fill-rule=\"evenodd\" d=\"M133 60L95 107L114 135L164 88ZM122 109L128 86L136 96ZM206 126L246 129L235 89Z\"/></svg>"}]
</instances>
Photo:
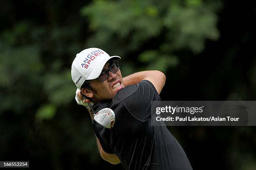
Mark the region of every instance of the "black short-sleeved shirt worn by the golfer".
<instances>
[{"instance_id":1,"label":"black short-sleeved shirt worn by the golfer","mask_svg":"<svg viewBox=\"0 0 256 170\"><path fill-rule=\"evenodd\" d=\"M151 101L160 101L154 85L143 80L118 91L111 102L93 106L95 112L110 107L115 125L93 128L106 153L115 153L126 170L192 170L184 150L166 126L152 126Z\"/></svg>"}]
</instances>

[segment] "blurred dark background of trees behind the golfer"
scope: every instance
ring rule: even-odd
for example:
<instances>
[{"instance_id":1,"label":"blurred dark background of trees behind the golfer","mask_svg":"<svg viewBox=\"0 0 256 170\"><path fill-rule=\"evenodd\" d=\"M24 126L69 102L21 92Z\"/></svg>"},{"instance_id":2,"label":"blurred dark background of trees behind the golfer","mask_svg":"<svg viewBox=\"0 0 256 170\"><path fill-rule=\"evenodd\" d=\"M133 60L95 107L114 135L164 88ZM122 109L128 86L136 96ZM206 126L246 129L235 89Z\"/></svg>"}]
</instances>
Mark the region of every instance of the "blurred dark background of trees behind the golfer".
<instances>
[{"instance_id":1,"label":"blurred dark background of trees behind the golfer","mask_svg":"<svg viewBox=\"0 0 256 170\"><path fill-rule=\"evenodd\" d=\"M120 55L123 76L166 75L162 100L255 100L256 4L168 0L0 1L0 160L30 169L121 170L102 160L74 100L75 55ZM256 169L254 127L169 127L194 170Z\"/></svg>"}]
</instances>

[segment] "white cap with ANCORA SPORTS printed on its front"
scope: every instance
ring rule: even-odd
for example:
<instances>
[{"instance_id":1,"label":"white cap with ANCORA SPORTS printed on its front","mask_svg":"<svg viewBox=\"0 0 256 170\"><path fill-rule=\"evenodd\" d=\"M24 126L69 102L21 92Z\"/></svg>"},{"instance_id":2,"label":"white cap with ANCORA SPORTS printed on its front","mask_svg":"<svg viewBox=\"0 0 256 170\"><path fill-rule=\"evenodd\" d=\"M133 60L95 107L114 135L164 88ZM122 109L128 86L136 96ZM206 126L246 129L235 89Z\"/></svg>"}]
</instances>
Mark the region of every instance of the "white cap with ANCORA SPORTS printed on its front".
<instances>
[{"instance_id":1,"label":"white cap with ANCORA SPORTS printed on its front","mask_svg":"<svg viewBox=\"0 0 256 170\"><path fill-rule=\"evenodd\" d=\"M100 76L106 62L113 58L120 60L119 56L109 56L107 52L99 48L87 48L79 52L71 67L71 76L79 90L85 80L93 80Z\"/></svg>"}]
</instances>

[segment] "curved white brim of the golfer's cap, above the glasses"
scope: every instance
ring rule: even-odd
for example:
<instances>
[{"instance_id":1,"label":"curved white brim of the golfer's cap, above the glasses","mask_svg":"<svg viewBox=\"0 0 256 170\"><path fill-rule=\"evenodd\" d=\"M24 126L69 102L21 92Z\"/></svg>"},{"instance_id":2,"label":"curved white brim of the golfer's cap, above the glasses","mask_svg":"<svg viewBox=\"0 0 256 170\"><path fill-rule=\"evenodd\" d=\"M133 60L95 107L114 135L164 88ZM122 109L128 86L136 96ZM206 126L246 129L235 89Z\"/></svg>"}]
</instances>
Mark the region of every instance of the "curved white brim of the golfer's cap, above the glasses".
<instances>
[{"instance_id":1,"label":"curved white brim of the golfer's cap, above the glasses","mask_svg":"<svg viewBox=\"0 0 256 170\"><path fill-rule=\"evenodd\" d=\"M114 60L120 60L121 57L114 55L108 58L105 58L104 60L102 60L91 72L91 74L87 77L86 80L93 80L95 78L98 78L100 76L100 73L102 72L102 69L104 67L104 65L108 62L108 60L110 59L114 59Z\"/></svg>"}]
</instances>

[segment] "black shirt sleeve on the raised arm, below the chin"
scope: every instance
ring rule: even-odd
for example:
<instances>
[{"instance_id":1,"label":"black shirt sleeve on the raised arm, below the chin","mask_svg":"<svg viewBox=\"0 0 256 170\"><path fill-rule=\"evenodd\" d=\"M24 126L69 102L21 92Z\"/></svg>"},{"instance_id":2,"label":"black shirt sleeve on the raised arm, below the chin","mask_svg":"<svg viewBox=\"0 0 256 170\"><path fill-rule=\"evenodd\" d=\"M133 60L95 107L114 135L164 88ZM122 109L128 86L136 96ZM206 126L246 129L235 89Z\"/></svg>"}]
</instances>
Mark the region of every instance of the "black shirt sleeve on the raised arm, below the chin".
<instances>
[{"instance_id":1,"label":"black shirt sleeve on the raised arm, below the chin","mask_svg":"<svg viewBox=\"0 0 256 170\"><path fill-rule=\"evenodd\" d=\"M158 100L161 98L154 85L148 80L142 80L138 88L123 100L123 104L133 117L146 122L151 117L151 101Z\"/></svg>"}]
</instances>

